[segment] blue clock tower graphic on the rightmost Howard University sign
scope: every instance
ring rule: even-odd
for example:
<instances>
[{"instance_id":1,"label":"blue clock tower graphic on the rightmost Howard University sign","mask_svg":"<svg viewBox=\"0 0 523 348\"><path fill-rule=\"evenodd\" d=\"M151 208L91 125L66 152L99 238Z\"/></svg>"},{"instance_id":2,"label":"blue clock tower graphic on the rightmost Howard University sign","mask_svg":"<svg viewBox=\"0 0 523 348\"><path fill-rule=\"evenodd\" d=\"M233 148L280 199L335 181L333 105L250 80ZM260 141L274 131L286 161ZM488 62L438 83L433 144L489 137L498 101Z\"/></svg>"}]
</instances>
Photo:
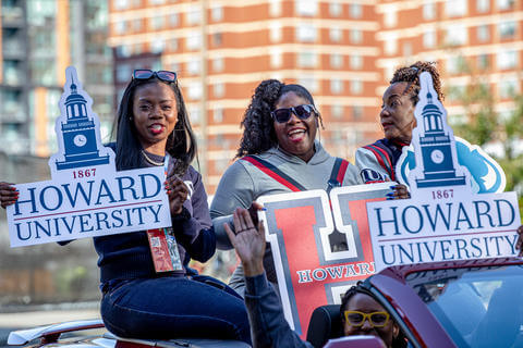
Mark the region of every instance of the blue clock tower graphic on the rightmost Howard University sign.
<instances>
[{"instance_id":1,"label":"blue clock tower graphic on the rightmost Howard University sign","mask_svg":"<svg viewBox=\"0 0 523 348\"><path fill-rule=\"evenodd\" d=\"M430 90L426 95L421 120L423 125L418 127L423 127L423 133L419 136L419 148L424 177L416 178L417 187L465 185L465 176L455 174L453 139L445 132L442 112L433 102Z\"/></svg>"}]
</instances>

